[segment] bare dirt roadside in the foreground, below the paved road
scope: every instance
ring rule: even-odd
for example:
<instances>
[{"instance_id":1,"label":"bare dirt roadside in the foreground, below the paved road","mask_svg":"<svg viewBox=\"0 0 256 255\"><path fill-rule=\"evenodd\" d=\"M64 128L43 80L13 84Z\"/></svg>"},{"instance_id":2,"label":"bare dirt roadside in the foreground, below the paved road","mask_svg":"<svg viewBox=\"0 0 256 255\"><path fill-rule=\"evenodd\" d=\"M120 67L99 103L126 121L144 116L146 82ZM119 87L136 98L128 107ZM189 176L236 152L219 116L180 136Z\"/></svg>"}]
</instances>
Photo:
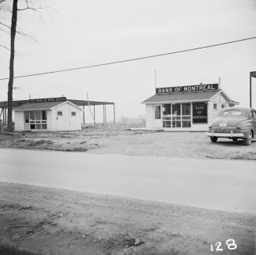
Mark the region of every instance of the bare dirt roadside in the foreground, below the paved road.
<instances>
[{"instance_id":1,"label":"bare dirt roadside in the foreground, below the paved road","mask_svg":"<svg viewBox=\"0 0 256 255\"><path fill-rule=\"evenodd\" d=\"M45 254L254 254L256 217L0 182L0 242ZM236 250L228 250L234 239Z\"/></svg>"}]
</instances>

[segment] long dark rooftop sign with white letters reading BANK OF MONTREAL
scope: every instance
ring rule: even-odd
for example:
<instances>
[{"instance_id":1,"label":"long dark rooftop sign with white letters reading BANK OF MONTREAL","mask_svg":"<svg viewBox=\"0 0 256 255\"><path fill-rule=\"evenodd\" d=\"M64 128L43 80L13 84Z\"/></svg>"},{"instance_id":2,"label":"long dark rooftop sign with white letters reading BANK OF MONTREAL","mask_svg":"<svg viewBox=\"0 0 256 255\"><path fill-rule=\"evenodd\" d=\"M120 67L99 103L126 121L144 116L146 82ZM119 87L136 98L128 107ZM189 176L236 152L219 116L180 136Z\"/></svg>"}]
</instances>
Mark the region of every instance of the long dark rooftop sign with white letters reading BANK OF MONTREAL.
<instances>
[{"instance_id":1,"label":"long dark rooftop sign with white letters reading BANK OF MONTREAL","mask_svg":"<svg viewBox=\"0 0 256 255\"><path fill-rule=\"evenodd\" d=\"M198 84L180 87L156 88L156 94L171 94L184 92L208 92L218 90L218 83Z\"/></svg>"}]
</instances>

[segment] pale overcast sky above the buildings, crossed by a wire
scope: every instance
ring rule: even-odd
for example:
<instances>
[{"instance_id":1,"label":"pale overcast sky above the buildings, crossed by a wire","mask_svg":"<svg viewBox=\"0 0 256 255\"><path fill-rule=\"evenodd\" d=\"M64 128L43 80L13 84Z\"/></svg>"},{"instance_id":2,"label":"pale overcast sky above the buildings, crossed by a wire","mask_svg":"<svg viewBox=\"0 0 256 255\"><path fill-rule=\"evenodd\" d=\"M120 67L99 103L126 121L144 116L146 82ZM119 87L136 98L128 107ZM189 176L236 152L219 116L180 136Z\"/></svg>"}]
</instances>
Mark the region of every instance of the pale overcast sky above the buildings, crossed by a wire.
<instances>
[{"instance_id":1,"label":"pale overcast sky above the buildings, crossed by a wire","mask_svg":"<svg viewBox=\"0 0 256 255\"><path fill-rule=\"evenodd\" d=\"M22 0L20 0L21 2ZM75 3L75 5L71 5ZM59 70L149 56L256 35L255 0L67 0L38 13L20 12L15 74ZM7 23L8 20L5 20ZM0 45L9 46L0 32ZM154 59L15 80L13 99L56 97L116 102L117 117L145 113L141 102L157 87L217 83L249 106L249 72L256 70L256 40ZM0 77L9 75L0 48ZM0 81L0 100L8 81ZM256 79L253 82L256 106ZM100 108L99 111L102 112ZM89 117L88 117L89 118Z\"/></svg>"}]
</instances>

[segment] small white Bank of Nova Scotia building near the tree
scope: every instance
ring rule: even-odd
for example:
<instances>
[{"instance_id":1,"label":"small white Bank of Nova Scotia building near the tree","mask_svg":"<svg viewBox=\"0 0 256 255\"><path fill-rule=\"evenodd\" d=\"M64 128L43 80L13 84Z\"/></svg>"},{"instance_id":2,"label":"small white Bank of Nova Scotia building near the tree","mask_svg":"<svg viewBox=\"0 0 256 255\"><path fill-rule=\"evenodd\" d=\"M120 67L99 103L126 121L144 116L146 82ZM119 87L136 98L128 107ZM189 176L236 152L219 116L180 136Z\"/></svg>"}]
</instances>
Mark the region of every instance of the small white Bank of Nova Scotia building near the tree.
<instances>
[{"instance_id":1,"label":"small white Bank of Nova Scotia building near the tree","mask_svg":"<svg viewBox=\"0 0 256 255\"><path fill-rule=\"evenodd\" d=\"M31 99L14 109L15 131L81 130L81 108L66 98Z\"/></svg>"}]
</instances>

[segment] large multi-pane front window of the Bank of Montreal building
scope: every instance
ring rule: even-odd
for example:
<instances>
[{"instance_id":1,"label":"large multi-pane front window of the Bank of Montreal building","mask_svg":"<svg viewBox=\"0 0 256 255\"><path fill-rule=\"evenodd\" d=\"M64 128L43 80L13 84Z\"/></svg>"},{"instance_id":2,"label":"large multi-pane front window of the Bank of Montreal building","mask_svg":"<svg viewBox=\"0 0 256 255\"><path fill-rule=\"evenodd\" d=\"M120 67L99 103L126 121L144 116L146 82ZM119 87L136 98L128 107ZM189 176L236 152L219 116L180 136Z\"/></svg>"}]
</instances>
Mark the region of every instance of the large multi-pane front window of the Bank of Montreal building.
<instances>
[{"instance_id":1,"label":"large multi-pane front window of the Bank of Montreal building","mask_svg":"<svg viewBox=\"0 0 256 255\"><path fill-rule=\"evenodd\" d=\"M190 103L163 105L163 127L191 127Z\"/></svg>"}]
</instances>

